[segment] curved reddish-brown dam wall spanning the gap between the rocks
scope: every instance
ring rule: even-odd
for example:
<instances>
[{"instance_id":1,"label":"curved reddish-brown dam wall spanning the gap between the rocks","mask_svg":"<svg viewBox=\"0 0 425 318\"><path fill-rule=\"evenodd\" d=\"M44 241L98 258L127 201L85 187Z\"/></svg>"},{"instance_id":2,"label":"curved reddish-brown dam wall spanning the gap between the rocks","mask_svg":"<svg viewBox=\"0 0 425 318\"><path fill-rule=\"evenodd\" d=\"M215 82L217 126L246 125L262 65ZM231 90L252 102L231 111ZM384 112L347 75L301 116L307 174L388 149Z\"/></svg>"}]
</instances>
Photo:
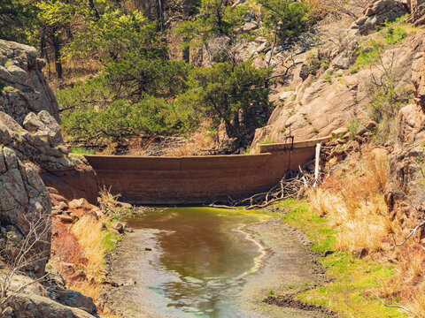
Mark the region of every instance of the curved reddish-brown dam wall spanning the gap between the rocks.
<instances>
[{"instance_id":1,"label":"curved reddish-brown dam wall spanning the gap between the rocks","mask_svg":"<svg viewBox=\"0 0 425 318\"><path fill-rule=\"evenodd\" d=\"M275 186L314 154L318 140L263 145L258 155L145 157L86 155L101 186L133 204L205 204Z\"/></svg>"}]
</instances>

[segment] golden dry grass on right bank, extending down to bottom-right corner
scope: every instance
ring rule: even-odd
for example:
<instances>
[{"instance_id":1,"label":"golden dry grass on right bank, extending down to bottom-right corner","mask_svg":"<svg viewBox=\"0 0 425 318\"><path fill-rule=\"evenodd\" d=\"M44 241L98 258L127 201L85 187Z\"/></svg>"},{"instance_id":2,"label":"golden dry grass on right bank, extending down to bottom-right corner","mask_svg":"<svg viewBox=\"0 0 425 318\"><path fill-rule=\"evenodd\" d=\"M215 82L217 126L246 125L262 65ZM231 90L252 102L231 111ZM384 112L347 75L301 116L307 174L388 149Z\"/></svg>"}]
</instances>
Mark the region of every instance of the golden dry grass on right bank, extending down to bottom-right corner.
<instances>
[{"instance_id":1,"label":"golden dry grass on right bank, extending down to bottom-right corner","mask_svg":"<svg viewBox=\"0 0 425 318\"><path fill-rule=\"evenodd\" d=\"M335 248L354 251L366 247L375 261L394 265L394 276L380 280L379 294L389 304L400 301L414 317L425 317L425 253L419 235L405 245L389 249L401 242L410 229L402 229L396 217L390 220L383 200L388 177L384 156L364 153L354 163L344 163L325 179L321 187L309 193L313 210L337 229Z\"/></svg>"}]
</instances>

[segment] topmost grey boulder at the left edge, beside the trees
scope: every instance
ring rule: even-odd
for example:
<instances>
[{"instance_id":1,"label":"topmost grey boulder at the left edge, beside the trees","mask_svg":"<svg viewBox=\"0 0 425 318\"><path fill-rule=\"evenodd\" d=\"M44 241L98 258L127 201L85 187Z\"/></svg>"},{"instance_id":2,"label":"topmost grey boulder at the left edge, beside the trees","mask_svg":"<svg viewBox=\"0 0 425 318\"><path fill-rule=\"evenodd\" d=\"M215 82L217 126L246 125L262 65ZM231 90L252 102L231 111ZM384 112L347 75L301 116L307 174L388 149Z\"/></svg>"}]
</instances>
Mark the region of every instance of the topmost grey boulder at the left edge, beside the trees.
<instances>
[{"instance_id":1,"label":"topmost grey boulder at the left edge, beside the trees","mask_svg":"<svg viewBox=\"0 0 425 318\"><path fill-rule=\"evenodd\" d=\"M44 64L36 49L0 40L0 110L20 125L31 111L46 110L59 120L58 102L42 73Z\"/></svg>"}]
</instances>

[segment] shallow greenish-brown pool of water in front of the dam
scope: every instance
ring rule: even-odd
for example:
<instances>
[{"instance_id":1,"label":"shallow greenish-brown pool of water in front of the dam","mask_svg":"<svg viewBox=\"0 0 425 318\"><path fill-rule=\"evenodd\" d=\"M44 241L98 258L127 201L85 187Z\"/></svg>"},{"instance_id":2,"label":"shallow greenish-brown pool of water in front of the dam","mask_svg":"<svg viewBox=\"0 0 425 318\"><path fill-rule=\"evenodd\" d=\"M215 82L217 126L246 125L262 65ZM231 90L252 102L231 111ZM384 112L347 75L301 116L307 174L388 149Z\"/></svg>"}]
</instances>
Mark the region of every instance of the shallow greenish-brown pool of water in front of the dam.
<instances>
[{"instance_id":1,"label":"shallow greenish-brown pool of water in front of the dam","mask_svg":"<svg viewBox=\"0 0 425 318\"><path fill-rule=\"evenodd\" d=\"M232 292L263 255L243 226L259 217L213 208L165 208L126 222L155 230L160 255L153 265L172 276L166 281L152 277L146 287L165 297L166 306L195 316L234 316Z\"/></svg>"}]
</instances>

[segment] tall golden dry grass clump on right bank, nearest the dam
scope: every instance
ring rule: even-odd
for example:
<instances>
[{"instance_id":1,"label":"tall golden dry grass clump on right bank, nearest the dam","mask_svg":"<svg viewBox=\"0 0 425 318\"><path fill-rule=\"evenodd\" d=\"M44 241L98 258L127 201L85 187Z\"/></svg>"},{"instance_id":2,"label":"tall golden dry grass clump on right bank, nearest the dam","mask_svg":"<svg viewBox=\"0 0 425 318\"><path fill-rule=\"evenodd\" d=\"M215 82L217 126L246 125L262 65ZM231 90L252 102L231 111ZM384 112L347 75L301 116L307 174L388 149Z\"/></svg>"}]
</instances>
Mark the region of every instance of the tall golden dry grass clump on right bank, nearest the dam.
<instances>
[{"instance_id":1,"label":"tall golden dry grass clump on right bank, nearest the dam","mask_svg":"<svg viewBox=\"0 0 425 318\"><path fill-rule=\"evenodd\" d=\"M338 178L340 186L329 188L325 183L310 193L313 210L326 216L330 226L338 229L337 250L382 248L383 238L393 231L383 200L387 174L386 158L367 155L333 177Z\"/></svg>"}]
</instances>

